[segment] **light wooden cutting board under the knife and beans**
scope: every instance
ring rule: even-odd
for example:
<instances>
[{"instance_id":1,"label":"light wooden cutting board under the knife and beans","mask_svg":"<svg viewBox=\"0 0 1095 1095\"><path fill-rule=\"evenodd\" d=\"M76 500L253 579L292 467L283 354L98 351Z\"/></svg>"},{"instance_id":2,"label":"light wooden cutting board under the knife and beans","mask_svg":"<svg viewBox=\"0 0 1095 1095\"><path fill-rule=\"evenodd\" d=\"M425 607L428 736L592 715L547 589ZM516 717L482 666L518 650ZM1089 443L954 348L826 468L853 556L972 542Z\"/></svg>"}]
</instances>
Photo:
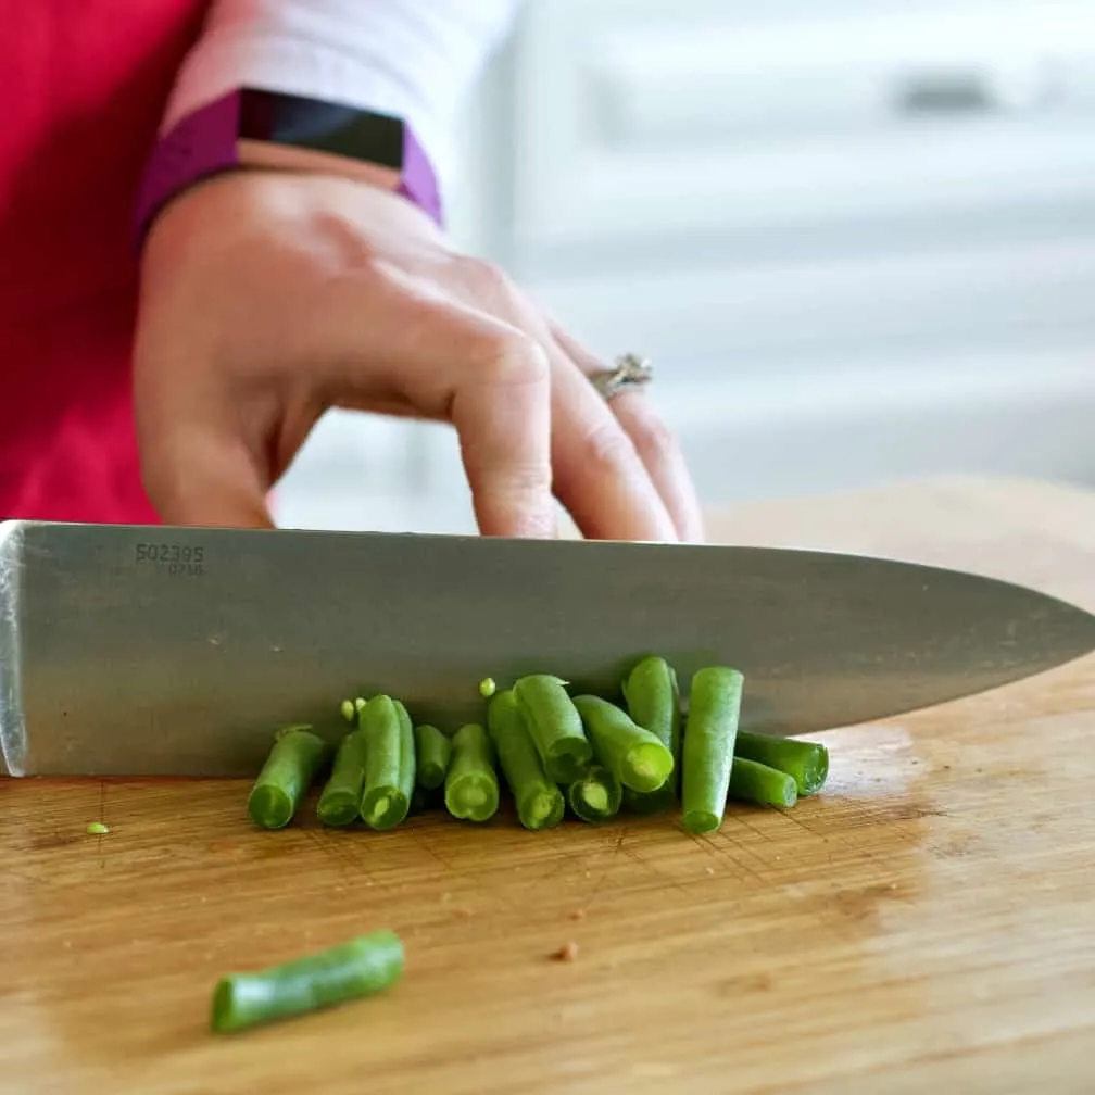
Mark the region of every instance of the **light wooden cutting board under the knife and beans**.
<instances>
[{"instance_id":1,"label":"light wooden cutting board under the knife and beans","mask_svg":"<svg viewBox=\"0 0 1095 1095\"><path fill-rule=\"evenodd\" d=\"M901 486L712 533L1095 608L1095 495L1063 488ZM710 838L265 833L245 784L5 781L0 1091L1095 1091L1095 659L825 737L821 797ZM219 975L382 926L407 950L389 994L208 1033Z\"/></svg>"}]
</instances>

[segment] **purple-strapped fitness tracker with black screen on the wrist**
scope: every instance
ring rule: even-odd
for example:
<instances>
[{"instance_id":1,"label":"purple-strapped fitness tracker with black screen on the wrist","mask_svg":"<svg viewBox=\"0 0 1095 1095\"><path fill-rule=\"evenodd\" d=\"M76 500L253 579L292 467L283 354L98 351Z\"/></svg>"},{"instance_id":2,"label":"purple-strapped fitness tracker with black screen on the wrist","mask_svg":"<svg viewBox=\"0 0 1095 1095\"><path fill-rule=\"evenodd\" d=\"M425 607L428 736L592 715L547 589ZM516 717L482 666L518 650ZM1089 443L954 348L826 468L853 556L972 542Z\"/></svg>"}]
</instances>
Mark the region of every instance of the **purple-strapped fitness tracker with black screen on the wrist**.
<instances>
[{"instance_id":1,"label":"purple-strapped fitness tracker with black screen on the wrist","mask_svg":"<svg viewBox=\"0 0 1095 1095\"><path fill-rule=\"evenodd\" d=\"M273 132L268 118L279 105L290 112L288 127L292 134L285 143L350 155L365 162L376 162L379 166L395 169L399 172L395 192L417 205L438 224L443 223L434 168L414 131L402 119L296 95L241 89L188 114L157 142L146 166L137 199L138 242L143 241L155 215L175 194L201 178L240 166L239 141L242 136L247 136L241 132L241 123L249 106L253 107L250 113L263 118L267 128L272 129L262 137L267 140L272 137L276 139L277 134ZM339 141L338 132L334 137L330 132L322 134L327 139L300 146L295 138L301 129L301 119L307 127L309 112L319 114L332 111L337 112L343 119L349 116L356 120L356 125L343 127L343 132L350 131L353 147L344 147L346 142ZM380 135L373 136L371 141L370 125ZM393 137L397 146L394 157Z\"/></svg>"}]
</instances>

